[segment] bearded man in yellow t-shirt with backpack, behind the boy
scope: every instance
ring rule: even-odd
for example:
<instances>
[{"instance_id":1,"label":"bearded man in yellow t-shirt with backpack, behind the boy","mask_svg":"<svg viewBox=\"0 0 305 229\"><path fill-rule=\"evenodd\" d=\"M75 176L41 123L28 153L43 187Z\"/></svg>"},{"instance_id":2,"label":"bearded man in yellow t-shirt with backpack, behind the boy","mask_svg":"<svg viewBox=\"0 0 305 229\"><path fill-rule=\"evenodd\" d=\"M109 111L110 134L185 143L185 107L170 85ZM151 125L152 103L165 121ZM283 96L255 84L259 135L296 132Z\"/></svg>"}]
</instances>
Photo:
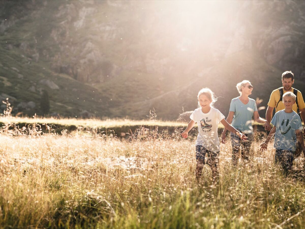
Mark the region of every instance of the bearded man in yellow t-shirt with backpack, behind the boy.
<instances>
[{"instance_id":1,"label":"bearded man in yellow t-shirt with backpack, behind the boy","mask_svg":"<svg viewBox=\"0 0 305 229\"><path fill-rule=\"evenodd\" d=\"M296 95L296 103L293 104L292 110L298 113L297 110L299 109L303 123L305 123L305 103L303 100L303 96L299 90L292 88L293 82L294 82L293 73L291 71L285 71L282 74L283 87L275 89L271 93L270 100L268 102L268 108L266 111L266 120L269 123L271 122L274 107L275 107L275 112L285 109L284 103L282 102L283 94L289 91ZM303 129L303 133L305 134L305 127Z\"/></svg>"}]
</instances>

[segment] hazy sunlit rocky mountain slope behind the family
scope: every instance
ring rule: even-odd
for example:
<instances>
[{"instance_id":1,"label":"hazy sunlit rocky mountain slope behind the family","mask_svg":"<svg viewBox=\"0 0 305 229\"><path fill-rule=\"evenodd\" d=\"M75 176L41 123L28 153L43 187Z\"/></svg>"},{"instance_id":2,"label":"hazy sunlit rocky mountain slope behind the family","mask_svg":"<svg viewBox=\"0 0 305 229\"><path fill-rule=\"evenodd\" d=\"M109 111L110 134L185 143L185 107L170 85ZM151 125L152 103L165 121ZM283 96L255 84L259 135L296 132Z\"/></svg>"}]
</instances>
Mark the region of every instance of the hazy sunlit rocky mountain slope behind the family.
<instances>
[{"instance_id":1,"label":"hazy sunlit rocky mountain slope behind the family","mask_svg":"<svg viewBox=\"0 0 305 229\"><path fill-rule=\"evenodd\" d=\"M0 96L14 112L175 119L210 87L227 114L237 82L267 103L292 70L305 93L301 1L13 1L0 12Z\"/></svg>"}]
</instances>

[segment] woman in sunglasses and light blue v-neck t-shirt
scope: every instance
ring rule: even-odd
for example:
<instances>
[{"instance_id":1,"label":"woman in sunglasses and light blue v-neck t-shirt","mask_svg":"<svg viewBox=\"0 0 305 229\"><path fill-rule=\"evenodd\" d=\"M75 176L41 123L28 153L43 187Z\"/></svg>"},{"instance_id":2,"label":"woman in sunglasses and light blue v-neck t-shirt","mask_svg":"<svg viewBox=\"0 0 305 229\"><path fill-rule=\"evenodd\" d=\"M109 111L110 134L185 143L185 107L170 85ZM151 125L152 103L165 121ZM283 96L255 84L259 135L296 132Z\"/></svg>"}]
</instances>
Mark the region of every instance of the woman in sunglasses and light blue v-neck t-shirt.
<instances>
[{"instance_id":1,"label":"woman in sunglasses and light blue v-neck t-shirt","mask_svg":"<svg viewBox=\"0 0 305 229\"><path fill-rule=\"evenodd\" d=\"M249 148L251 146L253 138L252 117L259 123L264 123L265 129L269 129L270 124L265 119L260 118L257 112L257 106L255 100L249 98L252 94L253 86L249 80L243 80L236 85L236 88L240 94L231 100L229 115L227 122L232 123L232 126L245 134L248 139L241 141L239 136L235 133L231 133L232 144L232 164L237 165L239 159L239 150L241 149L242 159L248 160ZM222 132L221 142L225 143L227 129L224 128Z\"/></svg>"}]
</instances>

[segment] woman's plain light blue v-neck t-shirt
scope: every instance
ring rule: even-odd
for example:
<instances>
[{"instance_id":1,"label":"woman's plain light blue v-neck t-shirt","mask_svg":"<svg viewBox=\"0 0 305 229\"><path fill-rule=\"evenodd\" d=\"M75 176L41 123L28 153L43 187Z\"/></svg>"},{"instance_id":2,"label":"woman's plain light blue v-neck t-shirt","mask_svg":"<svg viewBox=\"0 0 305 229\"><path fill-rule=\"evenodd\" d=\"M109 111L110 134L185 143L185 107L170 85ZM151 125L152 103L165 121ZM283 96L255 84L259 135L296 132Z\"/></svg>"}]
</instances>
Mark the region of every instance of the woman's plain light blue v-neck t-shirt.
<instances>
[{"instance_id":1,"label":"woman's plain light blue v-neck t-shirt","mask_svg":"<svg viewBox=\"0 0 305 229\"><path fill-rule=\"evenodd\" d=\"M254 99L249 98L249 102L243 104L238 97L234 98L231 100L229 111L234 112L232 126L234 126L235 129L239 129L246 134L253 133L252 116L254 111L257 111Z\"/></svg>"}]
</instances>

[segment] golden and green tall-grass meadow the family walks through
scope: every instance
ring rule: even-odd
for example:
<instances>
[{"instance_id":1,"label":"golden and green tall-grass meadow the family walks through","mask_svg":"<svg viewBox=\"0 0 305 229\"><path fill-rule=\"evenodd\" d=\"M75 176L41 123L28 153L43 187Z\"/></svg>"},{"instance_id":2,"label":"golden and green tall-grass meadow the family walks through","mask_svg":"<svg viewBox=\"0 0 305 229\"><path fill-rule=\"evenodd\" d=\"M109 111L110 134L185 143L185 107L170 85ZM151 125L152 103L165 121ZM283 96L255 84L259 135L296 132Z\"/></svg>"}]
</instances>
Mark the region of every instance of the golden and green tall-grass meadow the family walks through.
<instances>
[{"instance_id":1,"label":"golden and green tall-grass meadow the family walks through","mask_svg":"<svg viewBox=\"0 0 305 229\"><path fill-rule=\"evenodd\" d=\"M231 164L221 144L220 182L195 142L140 128L129 138L76 130L0 134L1 228L305 228L305 185L274 165L273 144Z\"/></svg>"}]
</instances>

